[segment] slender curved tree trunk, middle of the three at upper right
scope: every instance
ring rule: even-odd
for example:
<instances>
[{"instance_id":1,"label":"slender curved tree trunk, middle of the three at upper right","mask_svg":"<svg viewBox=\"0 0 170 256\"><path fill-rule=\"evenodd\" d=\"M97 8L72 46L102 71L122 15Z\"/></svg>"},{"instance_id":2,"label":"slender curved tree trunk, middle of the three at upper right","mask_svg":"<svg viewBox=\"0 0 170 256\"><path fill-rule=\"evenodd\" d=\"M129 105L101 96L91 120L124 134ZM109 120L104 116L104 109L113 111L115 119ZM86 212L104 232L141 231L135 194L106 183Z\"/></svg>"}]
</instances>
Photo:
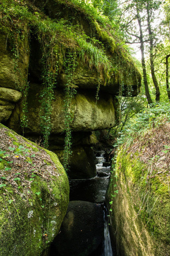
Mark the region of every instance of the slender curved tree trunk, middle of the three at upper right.
<instances>
[{"instance_id":1,"label":"slender curved tree trunk, middle of the three at upper right","mask_svg":"<svg viewBox=\"0 0 170 256\"><path fill-rule=\"evenodd\" d=\"M148 32L149 32L149 44L150 44L150 63L151 63L151 75L152 80L156 89L156 101L160 100L160 90L159 85L155 76L155 70L154 70L154 55L153 55L153 33L151 30L151 22L150 22L150 13L149 13L149 4L147 4L146 7L147 10L147 23L148 23Z\"/></svg>"}]
</instances>

